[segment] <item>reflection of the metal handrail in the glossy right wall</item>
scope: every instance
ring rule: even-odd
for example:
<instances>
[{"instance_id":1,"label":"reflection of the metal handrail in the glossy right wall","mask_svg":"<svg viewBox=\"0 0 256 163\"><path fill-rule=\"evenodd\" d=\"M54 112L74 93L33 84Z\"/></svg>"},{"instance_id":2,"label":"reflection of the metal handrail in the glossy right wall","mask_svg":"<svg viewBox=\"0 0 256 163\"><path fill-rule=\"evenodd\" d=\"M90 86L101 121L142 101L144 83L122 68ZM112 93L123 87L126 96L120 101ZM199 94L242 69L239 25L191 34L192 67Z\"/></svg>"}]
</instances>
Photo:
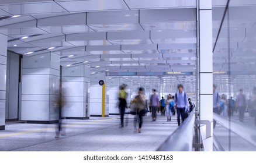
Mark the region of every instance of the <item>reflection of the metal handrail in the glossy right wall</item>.
<instances>
[{"instance_id":1,"label":"reflection of the metal handrail in the glossy right wall","mask_svg":"<svg viewBox=\"0 0 256 163\"><path fill-rule=\"evenodd\" d=\"M220 115L213 114L213 119L218 122L221 126L230 130L237 136L240 136L244 140L247 140L249 143L256 146L256 130L255 128L248 127L243 123L238 123L236 121L229 121L229 119L225 119ZM231 126L231 127L230 127Z\"/></svg>"}]
</instances>

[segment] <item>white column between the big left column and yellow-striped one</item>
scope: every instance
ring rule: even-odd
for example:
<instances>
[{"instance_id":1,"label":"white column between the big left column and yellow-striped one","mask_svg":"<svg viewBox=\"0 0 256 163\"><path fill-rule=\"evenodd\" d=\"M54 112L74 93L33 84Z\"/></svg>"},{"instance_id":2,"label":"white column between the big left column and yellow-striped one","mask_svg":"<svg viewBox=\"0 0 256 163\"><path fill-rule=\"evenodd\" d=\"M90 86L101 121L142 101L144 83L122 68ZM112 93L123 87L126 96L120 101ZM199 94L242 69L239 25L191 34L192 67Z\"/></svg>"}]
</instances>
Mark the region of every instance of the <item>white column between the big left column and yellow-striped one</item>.
<instances>
[{"instance_id":1,"label":"white column between the big left column and yellow-striped one","mask_svg":"<svg viewBox=\"0 0 256 163\"><path fill-rule=\"evenodd\" d=\"M67 119L89 119L90 68L86 65L63 68L61 74L63 108Z\"/></svg>"}]
</instances>

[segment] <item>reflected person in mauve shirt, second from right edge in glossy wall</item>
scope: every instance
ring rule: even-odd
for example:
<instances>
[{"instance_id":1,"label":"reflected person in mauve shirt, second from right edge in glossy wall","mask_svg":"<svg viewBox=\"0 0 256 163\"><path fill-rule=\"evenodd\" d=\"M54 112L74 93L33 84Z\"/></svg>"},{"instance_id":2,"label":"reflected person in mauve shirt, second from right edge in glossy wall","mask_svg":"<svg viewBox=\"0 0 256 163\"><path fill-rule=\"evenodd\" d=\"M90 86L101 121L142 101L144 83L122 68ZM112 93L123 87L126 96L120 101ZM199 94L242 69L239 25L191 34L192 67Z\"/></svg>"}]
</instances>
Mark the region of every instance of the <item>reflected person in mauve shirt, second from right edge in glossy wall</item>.
<instances>
[{"instance_id":1,"label":"reflected person in mauve shirt, second from right edge in glossy wall","mask_svg":"<svg viewBox=\"0 0 256 163\"><path fill-rule=\"evenodd\" d=\"M246 99L245 95L243 94L244 90L240 89L239 94L237 95L237 107L239 111L239 121L244 122L244 111L246 108Z\"/></svg>"}]
</instances>

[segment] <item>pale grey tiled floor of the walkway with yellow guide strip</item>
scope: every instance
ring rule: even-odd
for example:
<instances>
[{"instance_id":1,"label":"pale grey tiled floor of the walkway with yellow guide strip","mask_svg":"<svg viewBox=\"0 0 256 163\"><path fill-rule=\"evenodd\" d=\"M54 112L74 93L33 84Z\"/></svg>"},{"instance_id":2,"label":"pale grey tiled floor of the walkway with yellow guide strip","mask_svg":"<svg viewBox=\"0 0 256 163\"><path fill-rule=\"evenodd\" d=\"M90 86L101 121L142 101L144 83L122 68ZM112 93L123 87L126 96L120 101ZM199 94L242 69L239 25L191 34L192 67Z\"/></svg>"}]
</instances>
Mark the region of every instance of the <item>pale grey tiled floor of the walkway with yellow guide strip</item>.
<instances>
[{"instance_id":1,"label":"pale grey tiled floor of the walkway with yellow guide strip","mask_svg":"<svg viewBox=\"0 0 256 163\"><path fill-rule=\"evenodd\" d=\"M8 123L0 131L0 151L155 151L178 127L177 118L167 122L144 117L141 133L134 132L133 116L119 127L119 116L64 120L66 136L55 139L56 125Z\"/></svg>"}]
</instances>

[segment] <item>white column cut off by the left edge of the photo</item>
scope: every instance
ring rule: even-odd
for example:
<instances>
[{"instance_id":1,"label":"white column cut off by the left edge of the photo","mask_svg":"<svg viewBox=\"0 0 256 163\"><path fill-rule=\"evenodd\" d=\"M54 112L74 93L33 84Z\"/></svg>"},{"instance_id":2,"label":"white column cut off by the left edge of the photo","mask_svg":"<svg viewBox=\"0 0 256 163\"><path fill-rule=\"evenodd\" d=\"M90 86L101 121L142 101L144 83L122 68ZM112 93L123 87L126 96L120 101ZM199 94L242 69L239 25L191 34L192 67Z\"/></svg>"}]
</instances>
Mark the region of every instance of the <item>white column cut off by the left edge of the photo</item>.
<instances>
[{"instance_id":1,"label":"white column cut off by the left edge of the photo","mask_svg":"<svg viewBox=\"0 0 256 163\"><path fill-rule=\"evenodd\" d=\"M5 129L7 36L0 30L0 130Z\"/></svg>"}]
</instances>

